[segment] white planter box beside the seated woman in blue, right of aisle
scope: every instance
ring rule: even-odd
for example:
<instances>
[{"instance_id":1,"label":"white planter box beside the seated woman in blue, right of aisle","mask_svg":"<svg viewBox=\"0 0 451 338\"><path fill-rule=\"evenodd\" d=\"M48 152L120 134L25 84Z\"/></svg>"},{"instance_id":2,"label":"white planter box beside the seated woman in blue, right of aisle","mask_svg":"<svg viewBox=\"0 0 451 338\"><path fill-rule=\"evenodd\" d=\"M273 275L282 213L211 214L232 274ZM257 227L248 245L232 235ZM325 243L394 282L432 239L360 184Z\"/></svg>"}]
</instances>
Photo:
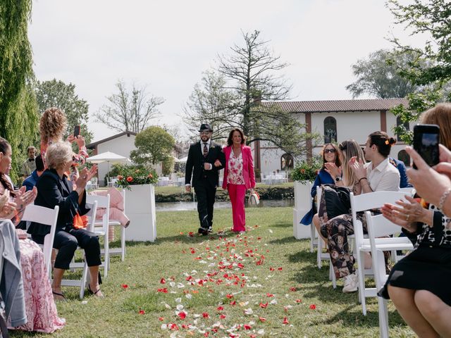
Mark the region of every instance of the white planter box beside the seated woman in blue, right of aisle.
<instances>
[{"instance_id":1,"label":"white planter box beside the seated woman in blue, right of aisle","mask_svg":"<svg viewBox=\"0 0 451 338\"><path fill-rule=\"evenodd\" d=\"M311 186L313 182L295 181L295 208L293 208L293 234L296 239L310 238L310 227L300 224L307 211L311 208Z\"/></svg>"}]
</instances>

